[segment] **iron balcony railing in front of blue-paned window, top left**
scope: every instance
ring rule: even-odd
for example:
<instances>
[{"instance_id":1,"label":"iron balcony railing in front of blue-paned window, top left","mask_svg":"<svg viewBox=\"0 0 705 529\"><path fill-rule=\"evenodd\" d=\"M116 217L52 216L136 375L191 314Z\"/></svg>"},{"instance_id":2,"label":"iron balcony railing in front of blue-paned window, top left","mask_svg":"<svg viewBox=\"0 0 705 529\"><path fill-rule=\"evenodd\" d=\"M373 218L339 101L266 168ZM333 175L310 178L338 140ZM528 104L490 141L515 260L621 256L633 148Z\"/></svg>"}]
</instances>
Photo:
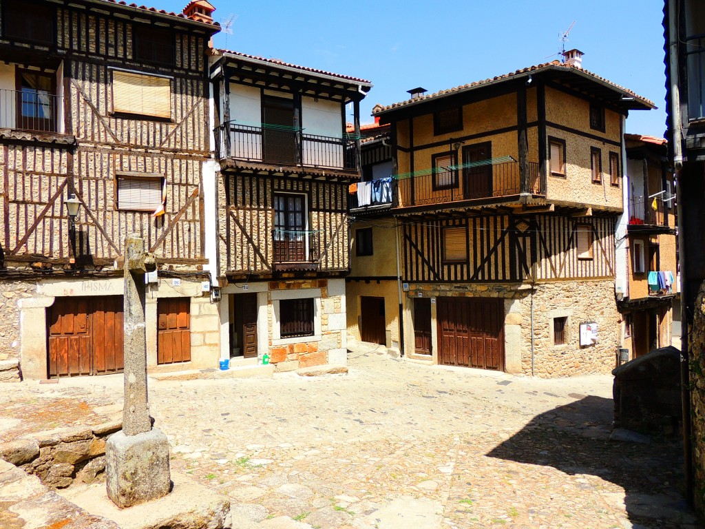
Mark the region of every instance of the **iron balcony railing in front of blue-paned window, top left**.
<instances>
[{"instance_id":1,"label":"iron balcony railing in front of blue-paned window, top left","mask_svg":"<svg viewBox=\"0 0 705 529\"><path fill-rule=\"evenodd\" d=\"M41 90L0 89L0 128L55 133L63 97Z\"/></svg>"}]
</instances>

